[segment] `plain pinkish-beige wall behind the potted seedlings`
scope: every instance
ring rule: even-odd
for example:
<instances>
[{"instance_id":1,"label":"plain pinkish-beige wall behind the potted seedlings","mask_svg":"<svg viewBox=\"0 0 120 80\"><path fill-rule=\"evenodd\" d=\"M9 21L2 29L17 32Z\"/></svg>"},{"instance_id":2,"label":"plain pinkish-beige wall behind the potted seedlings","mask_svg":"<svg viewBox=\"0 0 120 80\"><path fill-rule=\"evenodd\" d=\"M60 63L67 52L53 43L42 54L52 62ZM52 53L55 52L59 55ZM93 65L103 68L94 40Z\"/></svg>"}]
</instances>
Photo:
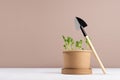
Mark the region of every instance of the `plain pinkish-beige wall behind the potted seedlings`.
<instances>
[{"instance_id":1,"label":"plain pinkish-beige wall behind the potted seedlings","mask_svg":"<svg viewBox=\"0 0 120 80\"><path fill-rule=\"evenodd\" d=\"M61 35L83 38L75 16L105 67L120 67L120 0L0 0L0 67L61 67Z\"/></svg>"}]
</instances>

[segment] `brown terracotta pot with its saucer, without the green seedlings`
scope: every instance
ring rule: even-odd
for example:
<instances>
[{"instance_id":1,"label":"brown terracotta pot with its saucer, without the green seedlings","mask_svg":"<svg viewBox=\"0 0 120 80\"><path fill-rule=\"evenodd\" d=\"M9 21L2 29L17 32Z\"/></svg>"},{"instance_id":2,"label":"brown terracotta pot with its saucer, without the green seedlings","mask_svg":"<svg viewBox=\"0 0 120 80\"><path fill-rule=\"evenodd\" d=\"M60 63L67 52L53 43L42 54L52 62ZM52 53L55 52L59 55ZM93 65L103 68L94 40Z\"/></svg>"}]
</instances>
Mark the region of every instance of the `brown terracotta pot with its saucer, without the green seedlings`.
<instances>
[{"instance_id":1,"label":"brown terracotta pot with its saucer, without the green seedlings","mask_svg":"<svg viewBox=\"0 0 120 80\"><path fill-rule=\"evenodd\" d=\"M63 74L91 74L90 50L63 51Z\"/></svg>"}]
</instances>

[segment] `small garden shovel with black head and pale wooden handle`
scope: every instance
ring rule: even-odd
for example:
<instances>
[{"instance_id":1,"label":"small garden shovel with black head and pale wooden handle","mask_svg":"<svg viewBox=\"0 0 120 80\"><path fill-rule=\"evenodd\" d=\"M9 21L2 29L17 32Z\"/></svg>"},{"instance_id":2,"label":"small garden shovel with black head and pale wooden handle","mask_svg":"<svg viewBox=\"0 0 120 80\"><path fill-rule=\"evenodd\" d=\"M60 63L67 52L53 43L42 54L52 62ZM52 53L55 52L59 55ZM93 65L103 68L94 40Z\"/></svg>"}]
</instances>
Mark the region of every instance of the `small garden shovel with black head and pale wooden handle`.
<instances>
[{"instance_id":1,"label":"small garden shovel with black head and pale wooden handle","mask_svg":"<svg viewBox=\"0 0 120 80\"><path fill-rule=\"evenodd\" d=\"M102 68L103 73L106 74L106 70L105 70L105 68L104 68L104 65L102 64L102 62L101 62L101 60L100 60L100 58L99 58L99 56L98 56L98 54L97 54L97 52L96 52L96 50L95 50L95 48L94 48L94 46L93 46L90 38L88 37L87 33L86 33L85 30L84 30L84 28L87 26L86 22L83 21L81 18L78 18L78 17L76 17L76 20L77 20L77 22L79 23L80 29L81 29L84 37L85 37L86 40L88 41L89 47L92 49L95 58L96 58L97 61L99 62L100 67Z\"/></svg>"}]
</instances>

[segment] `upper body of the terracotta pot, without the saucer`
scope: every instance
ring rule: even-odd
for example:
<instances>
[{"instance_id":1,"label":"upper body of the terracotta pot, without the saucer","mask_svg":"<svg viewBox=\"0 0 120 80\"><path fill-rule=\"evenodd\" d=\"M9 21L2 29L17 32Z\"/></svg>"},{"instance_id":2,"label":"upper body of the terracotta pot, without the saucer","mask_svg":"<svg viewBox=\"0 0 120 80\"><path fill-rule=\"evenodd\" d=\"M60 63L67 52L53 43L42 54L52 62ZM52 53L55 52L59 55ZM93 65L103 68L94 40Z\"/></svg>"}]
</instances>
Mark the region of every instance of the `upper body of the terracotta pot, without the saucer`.
<instances>
[{"instance_id":1,"label":"upper body of the terracotta pot, without the saucer","mask_svg":"<svg viewBox=\"0 0 120 80\"><path fill-rule=\"evenodd\" d=\"M90 68L90 50L63 51L64 68Z\"/></svg>"}]
</instances>

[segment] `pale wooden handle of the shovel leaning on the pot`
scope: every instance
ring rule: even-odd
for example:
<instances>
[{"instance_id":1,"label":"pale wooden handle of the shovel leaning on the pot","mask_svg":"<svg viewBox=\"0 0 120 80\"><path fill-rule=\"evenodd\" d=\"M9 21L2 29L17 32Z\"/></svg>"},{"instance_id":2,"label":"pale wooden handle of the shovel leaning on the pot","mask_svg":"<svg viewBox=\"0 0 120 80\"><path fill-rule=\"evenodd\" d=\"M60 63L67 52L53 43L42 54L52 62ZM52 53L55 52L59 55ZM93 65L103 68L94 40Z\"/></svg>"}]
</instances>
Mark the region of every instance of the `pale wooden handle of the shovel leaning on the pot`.
<instances>
[{"instance_id":1,"label":"pale wooden handle of the shovel leaning on the pot","mask_svg":"<svg viewBox=\"0 0 120 80\"><path fill-rule=\"evenodd\" d=\"M93 51L93 53L94 53L94 55L95 55L95 58L96 58L97 61L99 62L100 67L102 68L103 73L106 74L105 67L104 67L104 65L102 64L99 56L97 55L97 52L96 52L95 48L94 48L93 45L92 45L92 42L90 41L90 39L89 39L88 36L86 36L86 39L88 40L89 46L90 46L90 48L92 49L92 51Z\"/></svg>"}]
</instances>

